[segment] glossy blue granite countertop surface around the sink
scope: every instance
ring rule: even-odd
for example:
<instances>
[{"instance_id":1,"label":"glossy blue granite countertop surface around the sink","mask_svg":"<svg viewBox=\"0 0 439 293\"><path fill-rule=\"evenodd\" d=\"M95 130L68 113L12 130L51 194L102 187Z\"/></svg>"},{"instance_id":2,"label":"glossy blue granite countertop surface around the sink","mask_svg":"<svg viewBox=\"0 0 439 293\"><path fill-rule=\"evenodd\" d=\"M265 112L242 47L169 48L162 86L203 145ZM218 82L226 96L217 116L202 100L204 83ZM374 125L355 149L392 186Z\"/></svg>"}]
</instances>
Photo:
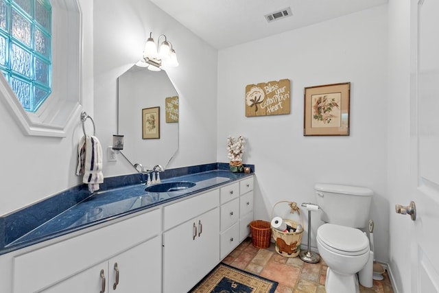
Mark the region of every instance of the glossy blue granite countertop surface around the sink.
<instances>
[{"instance_id":1,"label":"glossy blue granite countertop surface around the sink","mask_svg":"<svg viewBox=\"0 0 439 293\"><path fill-rule=\"evenodd\" d=\"M204 172L190 173L182 176L174 176L161 180L161 183L176 181L189 181L196 183L195 186L171 192L147 192L145 183L134 183L103 189L73 204L68 209L61 211L53 218L32 228L31 231L25 231L23 235L7 235L8 221L3 221L3 228L0 231L3 235L3 245L0 243L0 255L12 250L30 246L47 239L59 237L67 233L79 231L83 228L101 224L124 215L135 213L143 209L150 209L158 205L196 194L206 189L211 189L219 185L239 180L251 174L232 173L224 169L213 169ZM144 182L144 181L143 181ZM27 215L27 217L32 215ZM14 218L14 217L12 217ZM16 220L24 218L23 215ZM6 222L6 225L5 223ZM13 224L13 223L10 223ZM11 225L12 228L14 225ZM12 232L12 231L11 231ZM13 234L13 233L11 233ZM12 241L9 241L12 240Z\"/></svg>"}]
</instances>

